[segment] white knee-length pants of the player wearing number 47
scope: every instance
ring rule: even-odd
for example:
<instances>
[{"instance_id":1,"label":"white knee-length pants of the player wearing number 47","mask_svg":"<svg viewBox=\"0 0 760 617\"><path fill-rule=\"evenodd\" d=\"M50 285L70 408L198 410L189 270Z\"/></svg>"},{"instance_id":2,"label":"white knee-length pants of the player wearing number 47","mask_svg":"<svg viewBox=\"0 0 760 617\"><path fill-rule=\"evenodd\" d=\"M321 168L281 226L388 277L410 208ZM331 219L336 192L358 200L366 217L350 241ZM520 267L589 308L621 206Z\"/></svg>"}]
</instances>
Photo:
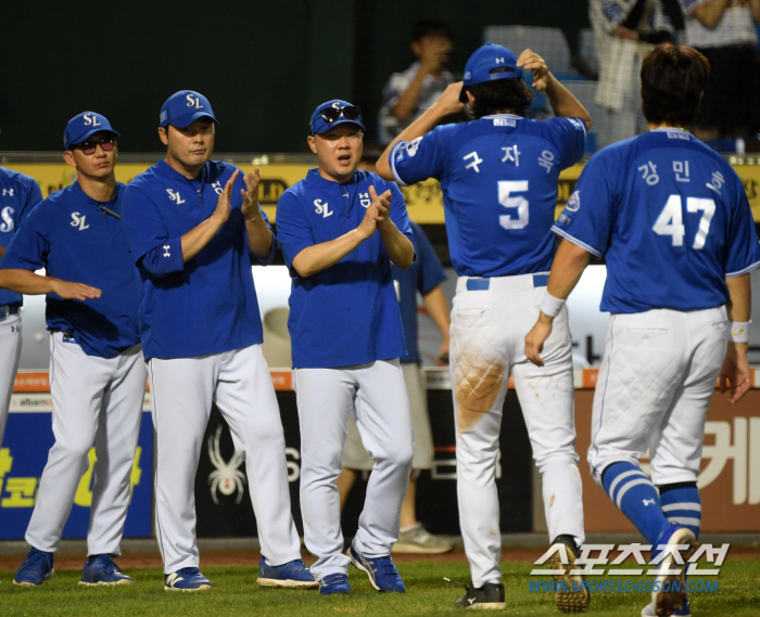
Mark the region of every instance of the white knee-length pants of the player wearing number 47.
<instances>
[{"instance_id":1,"label":"white knee-length pants of the player wearing number 47","mask_svg":"<svg viewBox=\"0 0 760 617\"><path fill-rule=\"evenodd\" d=\"M696 481L705 421L725 356L725 307L613 314L594 394L588 463L601 484L611 463L649 449L651 479Z\"/></svg>"}]
</instances>

